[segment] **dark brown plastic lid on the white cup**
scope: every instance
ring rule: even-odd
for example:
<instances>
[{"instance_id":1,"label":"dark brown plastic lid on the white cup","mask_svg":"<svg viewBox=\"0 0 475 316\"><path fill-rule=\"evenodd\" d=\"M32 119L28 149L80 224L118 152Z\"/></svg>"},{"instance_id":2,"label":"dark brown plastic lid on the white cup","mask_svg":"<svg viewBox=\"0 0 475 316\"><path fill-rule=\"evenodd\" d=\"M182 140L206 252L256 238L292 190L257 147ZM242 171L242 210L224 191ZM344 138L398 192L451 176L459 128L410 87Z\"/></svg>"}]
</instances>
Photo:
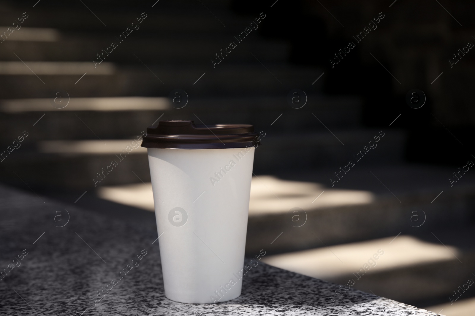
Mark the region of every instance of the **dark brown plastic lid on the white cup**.
<instances>
[{"instance_id":1,"label":"dark brown plastic lid on the white cup","mask_svg":"<svg viewBox=\"0 0 475 316\"><path fill-rule=\"evenodd\" d=\"M147 128L142 147L213 149L257 147L257 133L248 124L195 125L193 121L160 121Z\"/></svg>"}]
</instances>

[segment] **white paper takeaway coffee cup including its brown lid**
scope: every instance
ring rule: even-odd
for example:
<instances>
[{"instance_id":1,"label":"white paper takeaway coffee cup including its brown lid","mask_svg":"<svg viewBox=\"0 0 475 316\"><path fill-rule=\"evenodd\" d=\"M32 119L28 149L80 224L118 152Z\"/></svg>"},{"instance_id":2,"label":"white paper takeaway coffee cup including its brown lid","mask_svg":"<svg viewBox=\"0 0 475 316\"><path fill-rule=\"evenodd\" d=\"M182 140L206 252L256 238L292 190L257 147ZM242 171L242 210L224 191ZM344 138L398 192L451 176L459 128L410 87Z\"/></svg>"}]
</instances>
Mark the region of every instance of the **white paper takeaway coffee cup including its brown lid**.
<instances>
[{"instance_id":1,"label":"white paper takeaway coffee cup including its brown lid","mask_svg":"<svg viewBox=\"0 0 475 316\"><path fill-rule=\"evenodd\" d=\"M241 294L252 125L161 121L147 128L165 296L215 303Z\"/></svg>"}]
</instances>

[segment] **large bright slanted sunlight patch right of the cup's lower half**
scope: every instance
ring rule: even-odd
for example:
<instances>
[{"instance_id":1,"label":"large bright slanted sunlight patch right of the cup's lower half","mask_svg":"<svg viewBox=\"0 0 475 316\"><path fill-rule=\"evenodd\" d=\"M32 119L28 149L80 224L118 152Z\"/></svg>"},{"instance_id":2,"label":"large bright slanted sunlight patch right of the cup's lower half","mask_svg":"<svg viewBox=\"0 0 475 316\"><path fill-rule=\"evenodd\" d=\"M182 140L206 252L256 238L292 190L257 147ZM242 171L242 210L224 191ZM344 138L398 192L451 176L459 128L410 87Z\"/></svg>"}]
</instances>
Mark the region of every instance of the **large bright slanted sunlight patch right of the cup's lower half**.
<instances>
[{"instance_id":1,"label":"large bright slanted sunlight patch right of the cup's lower half","mask_svg":"<svg viewBox=\"0 0 475 316\"><path fill-rule=\"evenodd\" d=\"M330 247L322 244L321 248L266 256L262 261L322 280L351 277L365 264L366 267L372 265L365 269L366 273L374 273L429 262L457 261L454 254L458 255L459 252L455 247L447 246L447 249L442 244L428 243L408 235L399 235L394 239L395 237ZM378 254L379 249L384 253L374 259L373 255ZM370 258L372 261L369 262ZM363 274L365 270L362 271Z\"/></svg>"}]
</instances>

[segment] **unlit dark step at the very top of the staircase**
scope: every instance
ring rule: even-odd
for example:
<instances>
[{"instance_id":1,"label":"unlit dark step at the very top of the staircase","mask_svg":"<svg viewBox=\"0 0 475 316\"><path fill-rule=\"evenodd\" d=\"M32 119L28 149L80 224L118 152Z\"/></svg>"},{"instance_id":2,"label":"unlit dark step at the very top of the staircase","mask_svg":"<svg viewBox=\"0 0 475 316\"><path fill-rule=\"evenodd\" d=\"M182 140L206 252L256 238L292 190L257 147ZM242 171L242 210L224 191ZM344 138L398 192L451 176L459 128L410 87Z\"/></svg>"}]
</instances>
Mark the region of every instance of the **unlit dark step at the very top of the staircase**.
<instances>
[{"instance_id":1,"label":"unlit dark step at the very top of the staircase","mask_svg":"<svg viewBox=\"0 0 475 316\"><path fill-rule=\"evenodd\" d=\"M226 8L208 7L206 1L202 3L212 13L199 1L185 1L185 4L180 4L180 2L174 2L173 7L168 8L161 8L161 3L158 2L153 8L152 3L150 6L143 5L138 8L131 8L129 5L116 6L111 10L110 5L93 7L89 4L86 7L78 1L69 6L67 15L65 15L66 8L63 3L49 8L41 7L38 4L35 9L27 10L28 18L24 20L22 26L75 31L115 30L122 32L130 27L132 22L136 22L136 18L140 18L142 12L145 12L146 18L140 26L147 30L232 33L243 31L254 18L259 17L259 12L255 16L237 17ZM91 13L87 8L94 13ZM3 8L0 11L0 21L5 21L5 24L8 21L13 23L17 21L17 18L22 17L25 10L25 7Z\"/></svg>"}]
</instances>

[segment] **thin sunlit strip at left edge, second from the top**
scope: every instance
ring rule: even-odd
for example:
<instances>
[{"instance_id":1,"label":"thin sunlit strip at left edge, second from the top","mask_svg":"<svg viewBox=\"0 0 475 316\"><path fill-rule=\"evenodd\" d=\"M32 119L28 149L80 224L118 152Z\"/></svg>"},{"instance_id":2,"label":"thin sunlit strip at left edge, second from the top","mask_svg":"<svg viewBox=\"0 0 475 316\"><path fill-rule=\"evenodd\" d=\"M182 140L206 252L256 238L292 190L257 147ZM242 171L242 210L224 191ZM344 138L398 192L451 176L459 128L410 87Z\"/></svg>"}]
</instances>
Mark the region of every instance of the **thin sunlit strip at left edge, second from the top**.
<instances>
[{"instance_id":1,"label":"thin sunlit strip at left edge, second from the top","mask_svg":"<svg viewBox=\"0 0 475 316\"><path fill-rule=\"evenodd\" d=\"M24 62L24 63L23 63ZM0 62L0 75L111 75L113 63L101 63L94 68L92 62ZM78 78L79 79L79 78Z\"/></svg>"}]
</instances>

